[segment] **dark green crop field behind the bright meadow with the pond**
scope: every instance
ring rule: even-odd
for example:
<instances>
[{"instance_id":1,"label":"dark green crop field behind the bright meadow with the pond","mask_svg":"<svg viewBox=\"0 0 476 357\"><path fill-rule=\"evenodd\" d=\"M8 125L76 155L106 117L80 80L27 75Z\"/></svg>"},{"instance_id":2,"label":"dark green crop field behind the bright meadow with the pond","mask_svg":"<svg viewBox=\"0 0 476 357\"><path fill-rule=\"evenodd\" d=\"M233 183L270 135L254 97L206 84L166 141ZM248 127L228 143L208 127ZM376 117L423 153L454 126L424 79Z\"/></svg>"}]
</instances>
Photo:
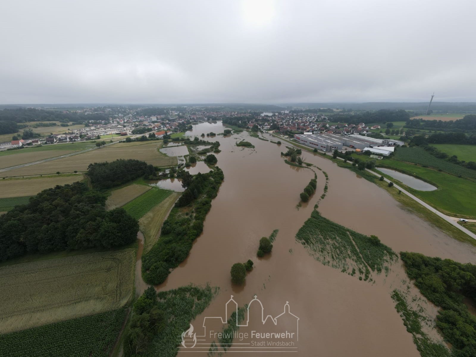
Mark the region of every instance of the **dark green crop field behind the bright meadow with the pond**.
<instances>
[{"instance_id":1,"label":"dark green crop field behind the bright meadow with the pond","mask_svg":"<svg viewBox=\"0 0 476 357\"><path fill-rule=\"evenodd\" d=\"M446 173L451 173L453 175L461 175L463 177L468 177L470 179L476 179L476 171L466 169L466 167L456 165L456 163L450 163L448 161L438 159L437 157L431 155L426 150L419 147L401 147L395 150L396 160L406 161L409 163L418 163L420 165L426 165L434 167L436 169L441 169Z\"/></svg>"}]
</instances>

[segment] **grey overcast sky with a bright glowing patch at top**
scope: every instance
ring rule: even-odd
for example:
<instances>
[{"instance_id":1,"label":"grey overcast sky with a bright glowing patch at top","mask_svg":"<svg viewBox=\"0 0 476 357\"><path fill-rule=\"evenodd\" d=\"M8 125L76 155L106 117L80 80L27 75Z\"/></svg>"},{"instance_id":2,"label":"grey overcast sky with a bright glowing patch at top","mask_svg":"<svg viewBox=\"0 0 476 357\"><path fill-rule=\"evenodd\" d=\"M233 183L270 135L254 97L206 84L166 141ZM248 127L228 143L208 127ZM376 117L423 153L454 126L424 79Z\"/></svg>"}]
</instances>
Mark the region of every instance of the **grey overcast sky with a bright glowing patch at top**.
<instances>
[{"instance_id":1,"label":"grey overcast sky with a bright glowing patch at top","mask_svg":"<svg viewBox=\"0 0 476 357\"><path fill-rule=\"evenodd\" d=\"M0 103L476 101L475 0L3 0Z\"/></svg>"}]
</instances>

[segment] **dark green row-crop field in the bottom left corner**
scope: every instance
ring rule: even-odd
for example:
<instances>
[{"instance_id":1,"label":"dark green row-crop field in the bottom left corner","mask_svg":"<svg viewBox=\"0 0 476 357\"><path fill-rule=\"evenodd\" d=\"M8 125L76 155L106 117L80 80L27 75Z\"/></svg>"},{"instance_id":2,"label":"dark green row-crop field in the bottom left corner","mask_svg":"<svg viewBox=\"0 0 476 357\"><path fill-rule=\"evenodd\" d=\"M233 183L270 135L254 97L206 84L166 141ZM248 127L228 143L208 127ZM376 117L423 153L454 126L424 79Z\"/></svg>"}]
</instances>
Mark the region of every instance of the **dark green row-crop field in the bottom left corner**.
<instances>
[{"instance_id":1,"label":"dark green row-crop field in the bottom left corner","mask_svg":"<svg viewBox=\"0 0 476 357\"><path fill-rule=\"evenodd\" d=\"M0 335L0 356L108 357L125 318L122 308Z\"/></svg>"}]
</instances>

